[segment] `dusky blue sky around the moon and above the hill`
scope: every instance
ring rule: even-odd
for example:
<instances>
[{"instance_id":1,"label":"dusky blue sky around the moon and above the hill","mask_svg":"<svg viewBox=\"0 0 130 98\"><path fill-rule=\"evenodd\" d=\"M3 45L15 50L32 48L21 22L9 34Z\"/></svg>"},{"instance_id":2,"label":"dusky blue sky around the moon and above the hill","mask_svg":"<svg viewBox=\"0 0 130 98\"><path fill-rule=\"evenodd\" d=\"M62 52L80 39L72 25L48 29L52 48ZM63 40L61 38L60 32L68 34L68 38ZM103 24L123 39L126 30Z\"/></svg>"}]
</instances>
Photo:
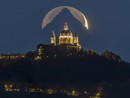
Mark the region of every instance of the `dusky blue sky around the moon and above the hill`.
<instances>
[{"instance_id":1,"label":"dusky blue sky around the moon and above the hill","mask_svg":"<svg viewBox=\"0 0 130 98\"><path fill-rule=\"evenodd\" d=\"M89 33L66 9L41 30L46 13L63 5L85 14ZM130 62L130 0L0 0L0 53L36 50L50 42L52 30L58 37L65 21L84 49L110 50Z\"/></svg>"}]
</instances>

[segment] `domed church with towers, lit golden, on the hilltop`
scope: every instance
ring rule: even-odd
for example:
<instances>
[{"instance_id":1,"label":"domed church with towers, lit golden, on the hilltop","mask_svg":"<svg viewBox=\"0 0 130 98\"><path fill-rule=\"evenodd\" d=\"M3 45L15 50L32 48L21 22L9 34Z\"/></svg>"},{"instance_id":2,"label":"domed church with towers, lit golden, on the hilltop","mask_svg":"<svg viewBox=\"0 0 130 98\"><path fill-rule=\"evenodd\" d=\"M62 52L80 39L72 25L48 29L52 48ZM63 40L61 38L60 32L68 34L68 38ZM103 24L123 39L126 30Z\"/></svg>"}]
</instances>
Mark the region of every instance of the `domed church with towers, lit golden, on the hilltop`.
<instances>
[{"instance_id":1,"label":"domed church with towers, lit golden, on the hilltop","mask_svg":"<svg viewBox=\"0 0 130 98\"><path fill-rule=\"evenodd\" d=\"M64 30L60 32L58 44L56 43L56 36L54 31L50 37L50 44L37 45L37 59L43 57L56 57L56 56L71 56L80 51L81 45L79 44L79 37L77 33L69 30L67 22L64 24Z\"/></svg>"}]
</instances>

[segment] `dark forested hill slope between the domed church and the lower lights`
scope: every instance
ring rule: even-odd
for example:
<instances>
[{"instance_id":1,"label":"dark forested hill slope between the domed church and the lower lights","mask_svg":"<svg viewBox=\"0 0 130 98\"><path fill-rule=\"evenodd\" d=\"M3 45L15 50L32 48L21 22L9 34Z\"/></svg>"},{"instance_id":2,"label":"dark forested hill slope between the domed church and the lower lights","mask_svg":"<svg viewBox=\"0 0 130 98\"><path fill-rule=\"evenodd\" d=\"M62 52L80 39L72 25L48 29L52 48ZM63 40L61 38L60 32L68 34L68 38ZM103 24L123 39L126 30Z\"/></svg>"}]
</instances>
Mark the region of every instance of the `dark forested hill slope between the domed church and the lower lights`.
<instances>
[{"instance_id":1,"label":"dark forested hill slope between the domed church and the lower lights","mask_svg":"<svg viewBox=\"0 0 130 98\"><path fill-rule=\"evenodd\" d=\"M94 51L80 51L78 55L16 61L0 61L1 81L22 81L27 83L79 85L98 82L115 82L130 79L130 64L109 51L97 54Z\"/></svg>"}]
</instances>

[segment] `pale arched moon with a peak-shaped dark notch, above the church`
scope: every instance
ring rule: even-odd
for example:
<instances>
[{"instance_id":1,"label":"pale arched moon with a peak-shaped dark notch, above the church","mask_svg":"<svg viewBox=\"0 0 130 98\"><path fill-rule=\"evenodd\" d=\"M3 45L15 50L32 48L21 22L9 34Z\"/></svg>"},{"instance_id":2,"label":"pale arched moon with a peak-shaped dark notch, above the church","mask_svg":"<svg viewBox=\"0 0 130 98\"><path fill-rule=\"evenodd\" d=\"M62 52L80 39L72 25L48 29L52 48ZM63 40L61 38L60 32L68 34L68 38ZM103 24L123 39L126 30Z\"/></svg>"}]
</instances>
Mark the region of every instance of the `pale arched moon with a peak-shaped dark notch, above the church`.
<instances>
[{"instance_id":1,"label":"pale arched moon with a peak-shaped dark notch, above the church","mask_svg":"<svg viewBox=\"0 0 130 98\"><path fill-rule=\"evenodd\" d=\"M77 10L76 8L70 7L70 6L60 6L56 7L52 10L50 10L46 15L45 18L42 21L42 29L44 29L49 23L51 23L54 18L63 10L63 9L68 9L70 13L73 15L74 18L76 18L82 25L88 30L88 21L85 15Z\"/></svg>"}]
</instances>

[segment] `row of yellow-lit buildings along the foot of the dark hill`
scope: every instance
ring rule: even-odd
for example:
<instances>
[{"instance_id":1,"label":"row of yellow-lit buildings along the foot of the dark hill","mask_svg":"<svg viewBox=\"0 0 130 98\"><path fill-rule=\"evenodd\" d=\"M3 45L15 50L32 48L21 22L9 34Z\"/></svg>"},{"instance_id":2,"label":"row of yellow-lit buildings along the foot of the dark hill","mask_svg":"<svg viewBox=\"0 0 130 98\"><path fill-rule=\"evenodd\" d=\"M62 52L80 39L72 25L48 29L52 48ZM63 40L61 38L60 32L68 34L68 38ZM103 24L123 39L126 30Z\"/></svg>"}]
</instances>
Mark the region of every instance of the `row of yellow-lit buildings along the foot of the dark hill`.
<instances>
[{"instance_id":1,"label":"row of yellow-lit buildings along the foot of the dark hill","mask_svg":"<svg viewBox=\"0 0 130 98\"><path fill-rule=\"evenodd\" d=\"M41 93L47 95L55 95L55 94L63 94L72 97L86 97L86 98L100 98L102 89L99 89L95 92L91 92L88 90L78 90L74 88L44 88L37 86L26 86L15 83L4 83L1 86L1 91L4 92L22 92L22 93Z\"/></svg>"}]
</instances>

